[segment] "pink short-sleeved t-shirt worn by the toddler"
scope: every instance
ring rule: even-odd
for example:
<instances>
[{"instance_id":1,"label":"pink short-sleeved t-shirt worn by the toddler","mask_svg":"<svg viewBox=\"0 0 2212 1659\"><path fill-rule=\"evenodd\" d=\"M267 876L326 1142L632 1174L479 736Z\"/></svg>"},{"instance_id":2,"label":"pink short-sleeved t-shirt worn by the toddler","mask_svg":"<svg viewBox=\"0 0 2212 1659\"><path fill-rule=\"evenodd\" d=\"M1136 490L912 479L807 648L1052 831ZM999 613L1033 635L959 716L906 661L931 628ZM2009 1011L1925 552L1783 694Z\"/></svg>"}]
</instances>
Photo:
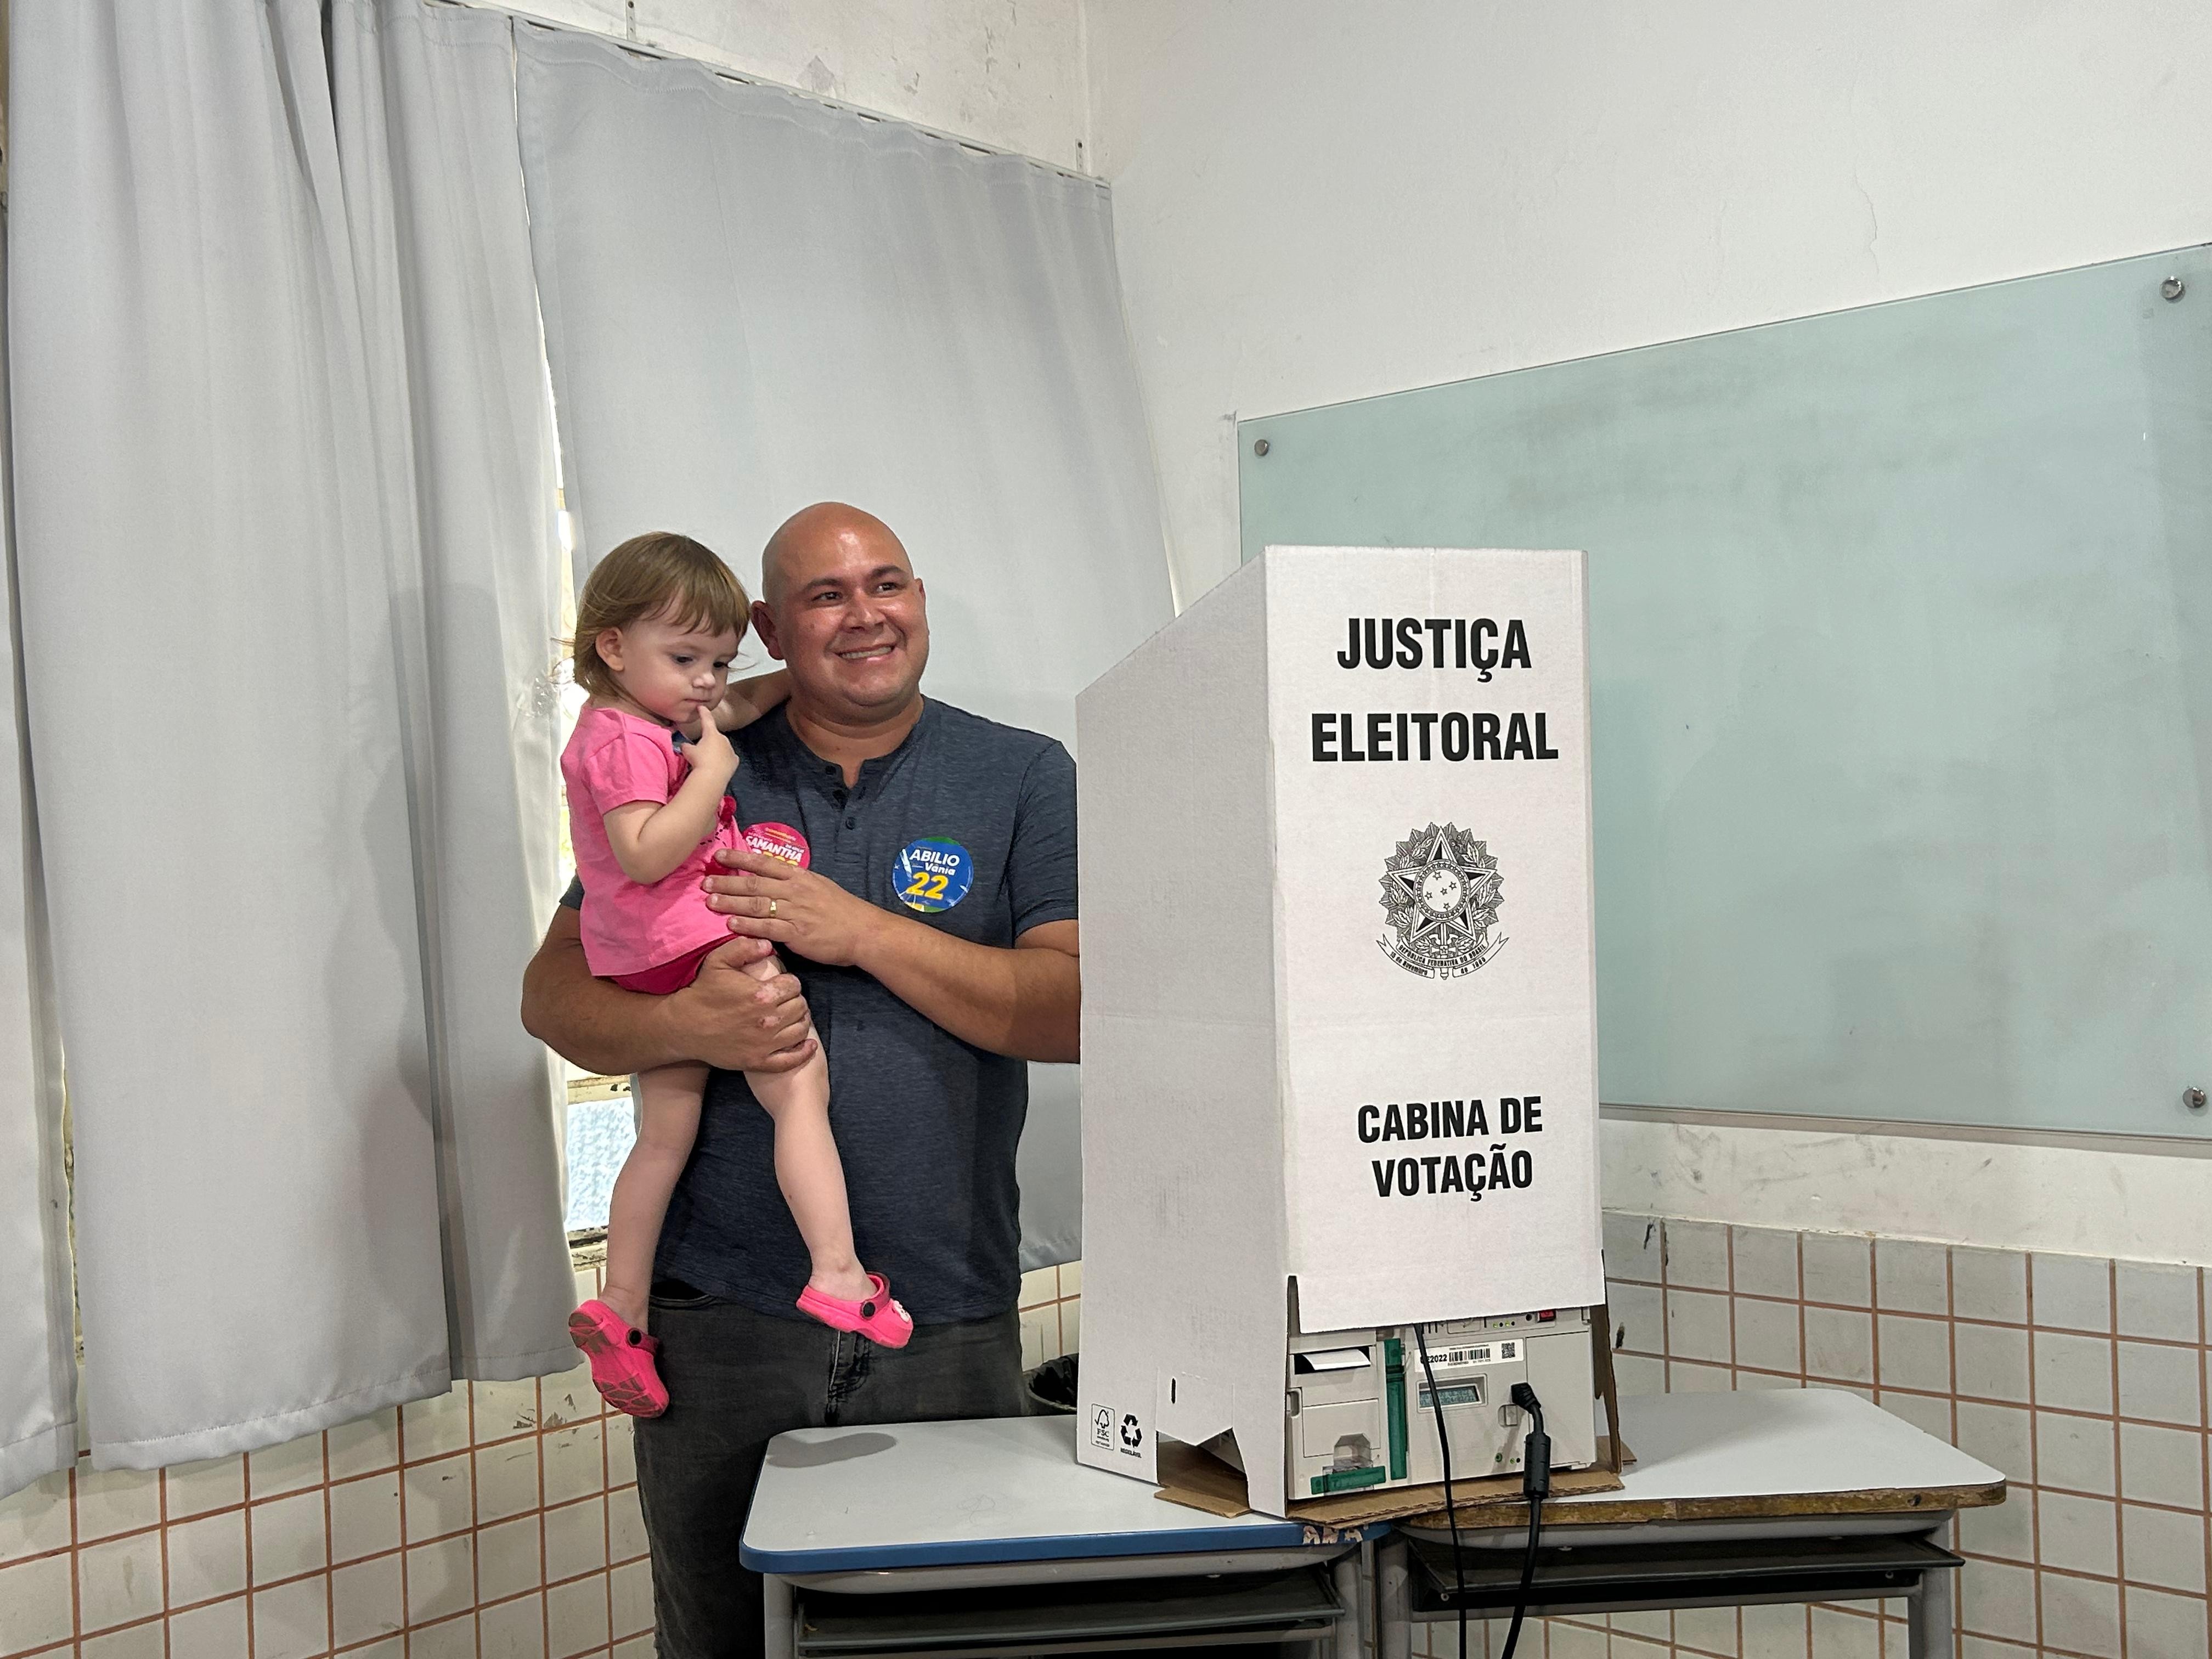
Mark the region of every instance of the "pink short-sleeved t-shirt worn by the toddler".
<instances>
[{"instance_id":1,"label":"pink short-sleeved t-shirt worn by the toddler","mask_svg":"<svg viewBox=\"0 0 2212 1659\"><path fill-rule=\"evenodd\" d=\"M577 717L560 774L568 781L568 841L584 883L584 962L602 980L644 973L690 956L710 940L730 938L728 918L708 909L699 878L717 874L717 847L734 847L737 805L726 794L714 832L657 883L622 874L606 843L606 814L630 801L666 803L690 761L681 759L666 726L619 708L586 708Z\"/></svg>"}]
</instances>

